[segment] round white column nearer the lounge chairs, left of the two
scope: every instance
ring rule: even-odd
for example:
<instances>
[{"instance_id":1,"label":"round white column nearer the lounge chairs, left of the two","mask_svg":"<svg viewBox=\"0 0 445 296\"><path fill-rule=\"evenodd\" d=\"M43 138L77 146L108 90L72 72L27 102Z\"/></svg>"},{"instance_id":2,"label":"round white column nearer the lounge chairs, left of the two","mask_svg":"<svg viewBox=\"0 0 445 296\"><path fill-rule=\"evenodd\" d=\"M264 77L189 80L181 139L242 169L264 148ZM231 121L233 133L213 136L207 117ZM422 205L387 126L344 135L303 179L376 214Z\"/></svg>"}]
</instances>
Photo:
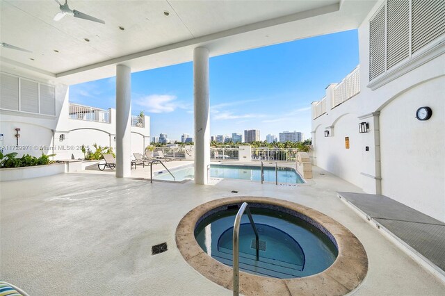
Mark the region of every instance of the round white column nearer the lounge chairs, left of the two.
<instances>
[{"instance_id":1,"label":"round white column nearer the lounge chairs, left of the two","mask_svg":"<svg viewBox=\"0 0 445 296\"><path fill-rule=\"evenodd\" d=\"M131 174L131 69L116 66L116 177Z\"/></svg>"}]
</instances>

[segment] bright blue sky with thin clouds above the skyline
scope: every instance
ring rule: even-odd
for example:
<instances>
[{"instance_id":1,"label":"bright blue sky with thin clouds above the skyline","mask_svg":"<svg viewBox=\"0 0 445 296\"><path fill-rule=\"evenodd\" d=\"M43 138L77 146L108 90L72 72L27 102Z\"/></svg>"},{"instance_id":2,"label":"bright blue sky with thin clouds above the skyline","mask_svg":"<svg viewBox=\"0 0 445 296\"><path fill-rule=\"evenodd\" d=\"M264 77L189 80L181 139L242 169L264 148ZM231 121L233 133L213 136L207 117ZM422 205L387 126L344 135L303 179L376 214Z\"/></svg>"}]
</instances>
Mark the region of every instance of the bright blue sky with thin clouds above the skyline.
<instances>
[{"instance_id":1,"label":"bright blue sky with thin clouds above the skyline","mask_svg":"<svg viewBox=\"0 0 445 296\"><path fill-rule=\"evenodd\" d=\"M259 129L310 137L312 101L359 63L357 30L210 58L211 135ZM70 86L70 101L115 108L115 78ZM131 112L150 116L151 135L193 136L193 64L131 74Z\"/></svg>"}]
</instances>

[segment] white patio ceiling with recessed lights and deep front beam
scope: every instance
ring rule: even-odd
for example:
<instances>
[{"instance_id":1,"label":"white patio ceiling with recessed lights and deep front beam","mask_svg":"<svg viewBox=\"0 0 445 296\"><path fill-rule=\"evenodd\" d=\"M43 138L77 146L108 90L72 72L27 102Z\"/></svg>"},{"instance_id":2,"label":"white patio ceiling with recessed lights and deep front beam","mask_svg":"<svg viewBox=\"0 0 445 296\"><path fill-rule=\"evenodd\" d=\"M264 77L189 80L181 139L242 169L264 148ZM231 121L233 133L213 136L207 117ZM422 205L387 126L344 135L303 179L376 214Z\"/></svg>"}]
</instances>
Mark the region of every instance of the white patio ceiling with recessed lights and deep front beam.
<instances>
[{"instance_id":1,"label":"white patio ceiling with recessed lights and deep front beam","mask_svg":"<svg viewBox=\"0 0 445 296\"><path fill-rule=\"evenodd\" d=\"M184 63L197 46L217 56L357 28L375 2L68 1L99 24L70 15L54 22L54 0L0 0L0 41L33 51L1 48L1 67L80 83L115 75L118 63L133 72Z\"/></svg>"}]
</instances>

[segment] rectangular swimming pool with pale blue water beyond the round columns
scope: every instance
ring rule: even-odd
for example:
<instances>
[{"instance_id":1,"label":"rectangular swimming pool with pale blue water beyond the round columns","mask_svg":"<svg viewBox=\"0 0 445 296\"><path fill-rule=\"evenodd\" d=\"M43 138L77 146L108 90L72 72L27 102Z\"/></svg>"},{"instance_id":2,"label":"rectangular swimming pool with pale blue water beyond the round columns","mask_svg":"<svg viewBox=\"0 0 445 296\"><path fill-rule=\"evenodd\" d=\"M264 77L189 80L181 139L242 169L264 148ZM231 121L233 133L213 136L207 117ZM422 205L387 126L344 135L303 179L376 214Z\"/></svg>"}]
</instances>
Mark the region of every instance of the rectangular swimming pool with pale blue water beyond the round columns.
<instances>
[{"instance_id":1,"label":"rectangular swimming pool with pale blue water beyond the round columns","mask_svg":"<svg viewBox=\"0 0 445 296\"><path fill-rule=\"evenodd\" d=\"M170 170L176 181L193 179L193 166ZM249 181L261 181L261 167L253 165L210 165L211 178L226 178ZM173 181L172 176L163 170L154 174L155 180ZM264 167L264 181L275 182L275 167ZM278 183L305 183L300 174L291 167L278 167Z\"/></svg>"}]
</instances>

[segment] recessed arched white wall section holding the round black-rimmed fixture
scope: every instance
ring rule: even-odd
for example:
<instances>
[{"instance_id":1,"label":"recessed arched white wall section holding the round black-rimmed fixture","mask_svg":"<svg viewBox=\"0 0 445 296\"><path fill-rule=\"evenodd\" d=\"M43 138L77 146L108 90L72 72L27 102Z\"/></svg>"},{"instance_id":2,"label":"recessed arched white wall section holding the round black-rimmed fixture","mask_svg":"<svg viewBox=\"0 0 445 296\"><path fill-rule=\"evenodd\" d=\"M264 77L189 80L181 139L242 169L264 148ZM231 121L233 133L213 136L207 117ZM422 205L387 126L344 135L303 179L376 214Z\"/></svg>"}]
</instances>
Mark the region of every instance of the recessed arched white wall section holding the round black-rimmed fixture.
<instances>
[{"instance_id":1,"label":"recessed arched white wall section holding the round black-rimmed fixture","mask_svg":"<svg viewBox=\"0 0 445 296\"><path fill-rule=\"evenodd\" d=\"M445 76L398 95L380 111L382 194L445 220ZM413 110L429 106L428 121Z\"/></svg>"}]
</instances>

